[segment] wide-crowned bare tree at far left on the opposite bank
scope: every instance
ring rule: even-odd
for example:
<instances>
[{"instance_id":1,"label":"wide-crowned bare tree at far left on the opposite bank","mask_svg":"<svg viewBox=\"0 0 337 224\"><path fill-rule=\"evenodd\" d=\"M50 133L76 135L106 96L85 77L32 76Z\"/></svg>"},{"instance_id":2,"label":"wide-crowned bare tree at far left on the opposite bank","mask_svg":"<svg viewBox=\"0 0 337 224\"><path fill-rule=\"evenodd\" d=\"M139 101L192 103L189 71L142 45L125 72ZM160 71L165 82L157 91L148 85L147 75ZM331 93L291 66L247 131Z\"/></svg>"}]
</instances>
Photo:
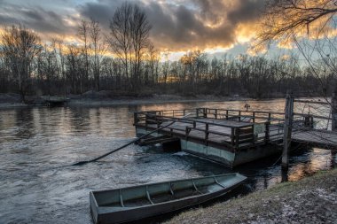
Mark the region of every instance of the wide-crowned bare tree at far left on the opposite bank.
<instances>
[{"instance_id":1,"label":"wide-crowned bare tree at far left on the opposite bank","mask_svg":"<svg viewBox=\"0 0 337 224\"><path fill-rule=\"evenodd\" d=\"M40 39L26 27L12 26L4 29L2 54L9 63L13 79L18 83L20 96L25 101L32 63L42 47Z\"/></svg>"}]
</instances>

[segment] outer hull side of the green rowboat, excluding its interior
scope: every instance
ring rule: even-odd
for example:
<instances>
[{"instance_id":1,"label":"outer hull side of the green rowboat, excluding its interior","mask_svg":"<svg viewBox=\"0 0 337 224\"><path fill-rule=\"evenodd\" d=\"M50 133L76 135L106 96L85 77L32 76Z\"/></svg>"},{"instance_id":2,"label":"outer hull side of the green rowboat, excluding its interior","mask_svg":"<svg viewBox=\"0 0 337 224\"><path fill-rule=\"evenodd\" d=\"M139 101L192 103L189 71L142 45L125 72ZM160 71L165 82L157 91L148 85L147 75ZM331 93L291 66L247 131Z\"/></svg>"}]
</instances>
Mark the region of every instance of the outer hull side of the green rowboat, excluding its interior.
<instances>
[{"instance_id":1,"label":"outer hull side of the green rowboat, excluding its interior","mask_svg":"<svg viewBox=\"0 0 337 224\"><path fill-rule=\"evenodd\" d=\"M245 179L246 180L246 177ZM95 196L90 192L90 210L94 223L99 224L112 224L122 223L131 220L141 220L148 217L153 217L167 212L174 212L193 205L200 205L216 197L221 197L231 189L236 188L242 182L237 182L230 187L216 190L207 194L202 194L192 197L184 197L181 199L171 200L155 205L145 205L139 207L123 207L119 211L115 208L98 206Z\"/></svg>"}]
</instances>

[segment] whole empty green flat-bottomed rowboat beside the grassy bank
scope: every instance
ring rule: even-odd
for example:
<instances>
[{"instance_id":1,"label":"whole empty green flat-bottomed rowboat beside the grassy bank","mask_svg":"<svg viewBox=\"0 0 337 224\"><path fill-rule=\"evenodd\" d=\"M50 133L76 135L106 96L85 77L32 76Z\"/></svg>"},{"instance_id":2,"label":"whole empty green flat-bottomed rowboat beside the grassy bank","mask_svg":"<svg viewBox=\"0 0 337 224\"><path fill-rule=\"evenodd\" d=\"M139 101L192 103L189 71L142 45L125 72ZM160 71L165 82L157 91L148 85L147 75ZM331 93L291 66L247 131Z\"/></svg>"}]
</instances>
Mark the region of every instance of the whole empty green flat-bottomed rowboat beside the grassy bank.
<instances>
[{"instance_id":1,"label":"whole empty green flat-bottomed rowboat beside the grassy bank","mask_svg":"<svg viewBox=\"0 0 337 224\"><path fill-rule=\"evenodd\" d=\"M223 174L91 191L91 215L99 224L140 220L223 196L246 179L241 174Z\"/></svg>"}]
</instances>

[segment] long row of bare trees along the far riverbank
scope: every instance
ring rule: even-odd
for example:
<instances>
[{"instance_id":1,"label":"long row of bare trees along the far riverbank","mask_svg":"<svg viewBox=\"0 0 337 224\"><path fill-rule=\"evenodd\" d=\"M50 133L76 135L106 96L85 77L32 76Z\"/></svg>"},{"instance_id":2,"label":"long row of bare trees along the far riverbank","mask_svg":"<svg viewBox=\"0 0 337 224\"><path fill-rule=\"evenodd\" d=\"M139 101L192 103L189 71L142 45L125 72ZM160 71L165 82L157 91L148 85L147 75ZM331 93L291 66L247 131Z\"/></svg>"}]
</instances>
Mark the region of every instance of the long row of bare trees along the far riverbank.
<instances>
[{"instance_id":1,"label":"long row of bare trees along the far riverbank","mask_svg":"<svg viewBox=\"0 0 337 224\"><path fill-rule=\"evenodd\" d=\"M313 73L294 56L209 58L193 50L176 61L163 60L150 40L151 27L145 12L129 3L116 9L108 34L95 19L82 20L75 43L43 42L27 27L5 27L0 39L0 92L20 93L24 100L27 95L78 95L89 90L133 97L280 97L286 89L329 91L333 71ZM317 82L322 85L317 87Z\"/></svg>"}]
</instances>

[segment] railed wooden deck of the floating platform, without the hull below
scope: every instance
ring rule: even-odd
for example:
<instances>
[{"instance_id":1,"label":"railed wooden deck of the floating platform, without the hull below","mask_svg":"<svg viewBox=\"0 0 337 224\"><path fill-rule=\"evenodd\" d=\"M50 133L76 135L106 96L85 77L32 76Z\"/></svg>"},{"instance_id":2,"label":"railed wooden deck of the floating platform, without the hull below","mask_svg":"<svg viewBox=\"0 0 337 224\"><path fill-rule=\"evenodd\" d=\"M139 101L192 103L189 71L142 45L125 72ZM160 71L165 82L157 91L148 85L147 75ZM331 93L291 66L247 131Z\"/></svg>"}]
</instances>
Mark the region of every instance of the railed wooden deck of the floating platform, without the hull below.
<instances>
[{"instance_id":1,"label":"railed wooden deck of the floating platform, without the hull below","mask_svg":"<svg viewBox=\"0 0 337 224\"><path fill-rule=\"evenodd\" d=\"M186 114L188 118L182 119ZM283 135L283 114L198 108L160 112L135 112L136 127L161 129L162 135L176 136L205 144L239 150L258 144L277 142Z\"/></svg>"}]
</instances>

